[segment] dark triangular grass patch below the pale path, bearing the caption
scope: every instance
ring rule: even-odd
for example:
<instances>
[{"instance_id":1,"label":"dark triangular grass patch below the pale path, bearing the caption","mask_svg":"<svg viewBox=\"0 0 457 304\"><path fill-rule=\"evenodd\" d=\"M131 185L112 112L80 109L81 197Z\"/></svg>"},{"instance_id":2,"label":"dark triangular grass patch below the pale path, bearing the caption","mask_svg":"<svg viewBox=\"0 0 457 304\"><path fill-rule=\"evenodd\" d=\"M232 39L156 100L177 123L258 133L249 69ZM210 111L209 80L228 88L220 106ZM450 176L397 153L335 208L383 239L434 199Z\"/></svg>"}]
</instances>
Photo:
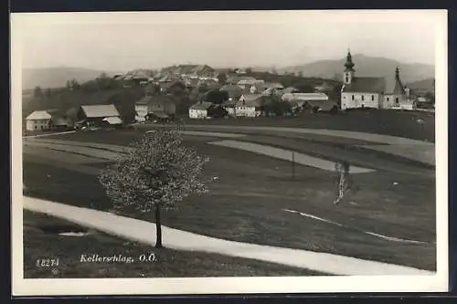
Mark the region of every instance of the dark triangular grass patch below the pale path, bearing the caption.
<instances>
[{"instance_id":1,"label":"dark triangular grass patch below the pale path, bearing the caption","mask_svg":"<svg viewBox=\"0 0 457 304\"><path fill-rule=\"evenodd\" d=\"M80 231L87 236L59 236L58 231ZM150 257L155 261L139 261ZM132 257L125 262L81 262L89 257ZM37 267L37 260L58 258L58 266ZM87 231L48 215L24 211L24 277L25 278L163 278L163 277L249 277L314 276L319 273L294 267L237 257L191 251L155 249L135 242Z\"/></svg>"}]
</instances>

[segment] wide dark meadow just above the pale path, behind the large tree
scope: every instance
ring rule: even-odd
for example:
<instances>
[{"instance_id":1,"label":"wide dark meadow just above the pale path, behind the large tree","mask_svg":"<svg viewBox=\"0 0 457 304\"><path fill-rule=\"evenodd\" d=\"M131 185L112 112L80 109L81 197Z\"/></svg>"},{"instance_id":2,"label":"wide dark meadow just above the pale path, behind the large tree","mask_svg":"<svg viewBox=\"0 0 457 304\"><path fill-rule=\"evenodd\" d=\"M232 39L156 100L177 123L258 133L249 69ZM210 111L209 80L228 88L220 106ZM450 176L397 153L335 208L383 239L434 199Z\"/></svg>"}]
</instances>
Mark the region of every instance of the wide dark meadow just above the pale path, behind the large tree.
<instances>
[{"instance_id":1,"label":"wide dark meadow just above the pale path, behind the large tree","mask_svg":"<svg viewBox=\"0 0 457 304\"><path fill-rule=\"evenodd\" d=\"M78 141L113 144L127 144L136 136L128 132L109 134L81 132L74 136ZM217 175L219 179L210 184L209 195L188 197L177 210L165 213L164 225L261 245L435 268L435 197L434 180L430 177L384 171L359 174L353 177L356 191L348 194L344 204L335 206L331 173L297 166L292 181L289 162L217 146L208 149L201 138L189 143L210 157L207 177ZM69 156L65 155L62 157L68 161ZM48 163L44 159L41 163L33 157L25 159L24 179L30 195L111 209L94 168L91 174L81 173L71 171L68 164L59 164L58 159ZM394 182L398 184L394 186ZM323 223L283 209L324 217L349 227ZM126 214L153 219L151 215L127 211ZM428 244L388 241L360 230Z\"/></svg>"}]
</instances>

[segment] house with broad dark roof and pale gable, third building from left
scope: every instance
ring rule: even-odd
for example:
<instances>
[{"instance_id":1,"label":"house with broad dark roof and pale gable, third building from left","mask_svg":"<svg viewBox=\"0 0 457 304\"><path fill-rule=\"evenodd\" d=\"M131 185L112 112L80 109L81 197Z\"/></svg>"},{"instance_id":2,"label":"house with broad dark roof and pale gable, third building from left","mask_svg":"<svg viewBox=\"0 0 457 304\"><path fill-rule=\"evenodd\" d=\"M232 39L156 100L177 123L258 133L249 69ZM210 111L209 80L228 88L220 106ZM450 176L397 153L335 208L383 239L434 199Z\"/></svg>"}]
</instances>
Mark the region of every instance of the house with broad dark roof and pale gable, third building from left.
<instances>
[{"instance_id":1,"label":"house with broad dark roof and pale gable, third building from left","mask_svg":"<svg viewBox=\"0 0 457 304\"><path fill-rule=\"evenodd\" d=\"M135 102L136 121L174 119L175 112L175 102L164 95L144 96Z\"/></svg>"}]
</instances>

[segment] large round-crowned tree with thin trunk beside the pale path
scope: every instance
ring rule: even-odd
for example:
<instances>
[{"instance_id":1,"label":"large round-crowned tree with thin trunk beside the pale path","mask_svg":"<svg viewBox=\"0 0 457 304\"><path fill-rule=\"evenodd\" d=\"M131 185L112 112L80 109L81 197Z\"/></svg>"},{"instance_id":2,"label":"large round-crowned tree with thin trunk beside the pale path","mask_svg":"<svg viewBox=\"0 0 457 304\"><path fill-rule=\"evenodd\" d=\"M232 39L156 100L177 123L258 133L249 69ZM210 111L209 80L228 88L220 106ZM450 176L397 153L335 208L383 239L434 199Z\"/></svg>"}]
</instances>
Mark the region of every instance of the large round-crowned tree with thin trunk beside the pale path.
<instances>
[{"instance_id":1,"label":"large round-crowned tree with thin trunk beside the pale path","mask_svg":"<svg viewBox=\"0 0 457 304\"><path fill-rule=\"evenodd\" d=\"M115 208L154 212L155 247L162 247L162 209L171 209L189 194L207 192L201 178L208 161L186 147L179 125L145 133L132 150L101 172L99 181Z\"/></svg>"}]
</instances>

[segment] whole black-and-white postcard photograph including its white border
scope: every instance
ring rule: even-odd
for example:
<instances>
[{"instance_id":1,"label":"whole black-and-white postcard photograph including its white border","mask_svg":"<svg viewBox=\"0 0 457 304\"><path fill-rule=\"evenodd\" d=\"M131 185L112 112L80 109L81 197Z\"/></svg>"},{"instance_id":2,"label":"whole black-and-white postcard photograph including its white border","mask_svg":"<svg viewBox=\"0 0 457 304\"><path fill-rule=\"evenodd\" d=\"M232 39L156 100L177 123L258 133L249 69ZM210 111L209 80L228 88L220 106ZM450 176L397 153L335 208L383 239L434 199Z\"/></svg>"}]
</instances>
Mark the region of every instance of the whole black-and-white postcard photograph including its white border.
<instances>
[{"instance_id":1,"label":"whole black-and-white postcard photograph including its white border","mask_svg":"<svg viewBox=\"0 0 457 304\"><path fill-rule=\"evenodd\" d=\"M447 12L11 15L17 296L448 289Z\"/></svg>"}]
</instances>

